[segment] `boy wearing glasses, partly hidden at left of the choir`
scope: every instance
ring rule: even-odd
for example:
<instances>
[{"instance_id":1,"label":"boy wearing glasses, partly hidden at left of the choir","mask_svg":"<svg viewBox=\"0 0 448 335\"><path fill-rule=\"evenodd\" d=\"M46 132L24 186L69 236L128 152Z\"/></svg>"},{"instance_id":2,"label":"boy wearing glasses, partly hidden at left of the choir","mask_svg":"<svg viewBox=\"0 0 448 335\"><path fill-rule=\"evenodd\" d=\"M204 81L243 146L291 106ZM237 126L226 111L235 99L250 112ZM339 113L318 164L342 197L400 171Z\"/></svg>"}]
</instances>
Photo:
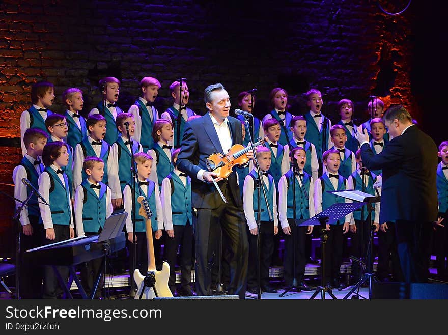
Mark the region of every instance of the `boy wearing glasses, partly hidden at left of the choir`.
<instances>
[{"instance_id":1,"label":"boy wearing glasses, partly hidden at left of the choir","mask_svg":"<svg viewBox=\"0 0 448 335\"><path fill-rule=\"evenodd\" d=\"M64 142L64 139L67 137L68 133L68 122L65 116L60 114L51 114L47 116L45 120L45 128L50 134L47 143L61 141ZM67 145L68 148L68 164L63 167L65 174L67 175L68 184L70 185L70 196L72 199L72 203L74 200L75 192L73 188L73 147Z\"/></svg>"}]
</instances>

